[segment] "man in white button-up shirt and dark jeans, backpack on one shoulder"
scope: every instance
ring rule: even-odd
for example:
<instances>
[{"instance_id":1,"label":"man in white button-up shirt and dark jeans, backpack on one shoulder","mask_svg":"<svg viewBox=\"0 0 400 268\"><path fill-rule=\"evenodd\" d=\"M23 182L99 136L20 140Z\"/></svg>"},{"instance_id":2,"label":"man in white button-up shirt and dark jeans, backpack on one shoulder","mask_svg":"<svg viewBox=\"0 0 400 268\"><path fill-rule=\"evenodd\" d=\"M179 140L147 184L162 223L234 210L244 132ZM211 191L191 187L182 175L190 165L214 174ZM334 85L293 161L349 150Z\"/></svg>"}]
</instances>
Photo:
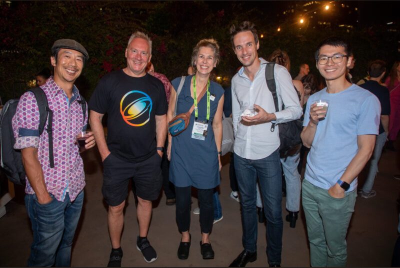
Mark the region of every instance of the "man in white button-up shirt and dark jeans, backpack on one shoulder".
<instances>
[{"instance_id":1,"label":"man in white button-up shirt and dark jeans, backpack on one shoulder","mask_svg":"<svg viewBox=\"0 0 400 268\"><path fill-rule=\"evenodd\" d=\"M258 36L254 24L243 21L230 28L233 50L243 67L232 78L234 165L240 191L244 250L230 266L245 266L256 259L257 214L255 184L259 179L267 219L266 254L269 266L279 266L282 248L282 177L278 127L271 124L297 119L302 114L296 90L287 69L275 64L274 77L279 107L275 111L272 93L266 85L263 58L258 58ZM244 116L244 107L255 115Z\"/></svg>"}]
</instances>

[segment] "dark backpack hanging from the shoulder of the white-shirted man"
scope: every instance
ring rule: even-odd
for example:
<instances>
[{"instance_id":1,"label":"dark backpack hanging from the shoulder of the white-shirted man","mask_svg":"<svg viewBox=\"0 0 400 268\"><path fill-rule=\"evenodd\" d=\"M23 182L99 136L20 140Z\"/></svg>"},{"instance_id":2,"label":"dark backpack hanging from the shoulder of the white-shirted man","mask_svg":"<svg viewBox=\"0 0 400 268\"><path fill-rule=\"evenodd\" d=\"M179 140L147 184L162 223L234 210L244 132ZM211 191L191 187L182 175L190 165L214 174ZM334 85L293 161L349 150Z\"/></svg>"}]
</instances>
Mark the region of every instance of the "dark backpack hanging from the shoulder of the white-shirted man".
<instances>
[{"instance_id":1,"label":"dark backpack hanging from the shoulder of the white-shirted man","mask_svg":"<svg viewBox=\"0 0 400 268\"><path fill-rule=\"evenodd\" d=\"M278 97L276 93L276 84L275 78L273 74L273 67L275 62L267 62L265 66L265 80L268 89L272 93L273 103L275 104L275 111L279 111L284 109L284 105L282 103L282 108L279 109L278 105ZM300 99L300 94L297 89L297 96ZM282 101L283 102L283 101ZM281 158L286 158L287 156L291 156L296 154L301 148L301 138L300 133L302 129L302 122L300 119L292 120L285 123L279 123L279 153ZM275 129L275 123L271 125L271 132Z\"/></svg>"}]
</instances>

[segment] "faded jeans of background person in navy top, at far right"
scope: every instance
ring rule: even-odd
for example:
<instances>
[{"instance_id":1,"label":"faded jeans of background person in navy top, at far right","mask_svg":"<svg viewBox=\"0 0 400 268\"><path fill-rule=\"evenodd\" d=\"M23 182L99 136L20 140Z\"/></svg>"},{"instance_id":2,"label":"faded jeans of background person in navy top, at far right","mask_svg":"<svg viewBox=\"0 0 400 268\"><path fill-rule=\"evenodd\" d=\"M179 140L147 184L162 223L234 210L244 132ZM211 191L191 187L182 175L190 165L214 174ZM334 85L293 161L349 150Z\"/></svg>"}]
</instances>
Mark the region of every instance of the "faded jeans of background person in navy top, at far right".
<instances>
[{"instance_id":1,"label":"faded jeans of background person in navy top, at far right","mask_svg":"<svg viewBox=\"0 0 400 268\"><path fill-rule=\"evenodd\" d=\"M376 136L373 154L371 159L369 160L368 175L366 176L364 185L362 186L362 191L365 193L369 193L372 190L376 172L378 171L378 162L380 159L380 155L382 154L382 148L384 143L386 142L386 136L387 136L386 132L382 132Z\"/></svg>"}]
</instances>

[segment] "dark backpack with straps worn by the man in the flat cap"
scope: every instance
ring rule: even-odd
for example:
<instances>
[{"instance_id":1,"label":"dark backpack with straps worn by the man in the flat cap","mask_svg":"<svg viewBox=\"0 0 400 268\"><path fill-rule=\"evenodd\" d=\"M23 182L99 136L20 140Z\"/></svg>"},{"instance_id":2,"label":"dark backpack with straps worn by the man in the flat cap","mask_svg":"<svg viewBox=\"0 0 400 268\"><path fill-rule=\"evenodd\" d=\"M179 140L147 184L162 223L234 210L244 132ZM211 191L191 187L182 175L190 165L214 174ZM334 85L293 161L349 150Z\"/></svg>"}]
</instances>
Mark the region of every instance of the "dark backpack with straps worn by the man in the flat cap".
<instances>
[{"instance_id":1,"label":"dark backpack with straps worn by the man in the flat cap","mask_svg":"<svg viewBox=\"0 0 400 268\"><path fill-rule=\"evenodd\" d=\"M46 120L48 121L46 132L48 133L48 152L50 167L54 167L53 157L53 140L52 140L52 111L48 108L48 102L46 94L40 87L28 89L31 91L37 101L37 107L39 108L39 136L43 133ZM86 101L80 95L83 120L86 116ZM21 150L13 148L15 144L15 137L12 131L11 120L16 112L16 106L18 105L18 98L8 100L0 113L0 165L8 179L16 184L25 184L25 170L22 164Z\"/></svg>"}]
</instances>

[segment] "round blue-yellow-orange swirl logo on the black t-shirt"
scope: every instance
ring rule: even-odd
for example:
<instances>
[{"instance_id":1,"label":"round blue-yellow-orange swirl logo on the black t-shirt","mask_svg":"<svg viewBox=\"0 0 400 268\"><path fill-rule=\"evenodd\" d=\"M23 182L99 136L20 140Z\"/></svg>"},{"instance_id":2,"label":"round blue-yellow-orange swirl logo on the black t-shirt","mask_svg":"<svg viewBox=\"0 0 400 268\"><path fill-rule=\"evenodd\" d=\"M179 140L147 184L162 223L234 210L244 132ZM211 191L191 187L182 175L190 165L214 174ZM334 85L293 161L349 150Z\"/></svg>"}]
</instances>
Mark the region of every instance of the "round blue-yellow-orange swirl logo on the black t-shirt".
<instances>
[{"instance_id":1,"label":"round blue-yellow-orange swirl logo on the black t-shirt","mask_svg":"<svg viewBox=\"0 0 400 268\"><path fill-rule=\"evenodd\" d=\"M123 120L132 126L142 126L150 120L153 102L142 91L132 90L121 99L119 111Z\"/></svg>"}]
</instances>

